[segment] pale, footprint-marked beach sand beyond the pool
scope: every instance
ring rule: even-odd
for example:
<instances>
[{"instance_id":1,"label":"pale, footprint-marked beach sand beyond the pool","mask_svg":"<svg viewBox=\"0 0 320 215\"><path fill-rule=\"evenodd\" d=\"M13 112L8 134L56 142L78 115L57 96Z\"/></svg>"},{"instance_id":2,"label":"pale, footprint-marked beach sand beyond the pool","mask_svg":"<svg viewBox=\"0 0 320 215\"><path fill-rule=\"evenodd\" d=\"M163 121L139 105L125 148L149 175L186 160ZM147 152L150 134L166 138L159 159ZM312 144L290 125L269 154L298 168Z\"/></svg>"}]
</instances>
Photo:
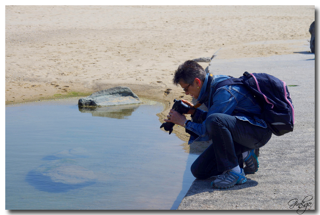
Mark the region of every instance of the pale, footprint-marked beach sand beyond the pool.
<instances>
[{"instance_id":1,"label":"pale, footprint-marked beach sand beyond the pool","mask_svg":"<svg viewBox=\"0 0 320 215\"><path fill-rule=\"evenodd\" d=\"M172 84L185 60L309 51L314 20L314 6L6 6L5 104L128 86L165 104L162 123L173 99L191 101Z\"/></svg>"}]
</instances>

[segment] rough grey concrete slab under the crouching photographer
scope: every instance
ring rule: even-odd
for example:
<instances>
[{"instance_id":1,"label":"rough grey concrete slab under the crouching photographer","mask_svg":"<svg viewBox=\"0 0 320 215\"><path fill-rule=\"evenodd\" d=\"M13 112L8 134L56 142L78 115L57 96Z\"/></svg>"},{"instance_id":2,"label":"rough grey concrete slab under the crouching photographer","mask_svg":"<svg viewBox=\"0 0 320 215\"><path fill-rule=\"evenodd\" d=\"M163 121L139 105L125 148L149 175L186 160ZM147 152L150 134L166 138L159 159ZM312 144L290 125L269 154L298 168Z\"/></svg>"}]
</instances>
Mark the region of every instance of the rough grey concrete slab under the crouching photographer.
<instances>
[{"instance_id":1,"label":"rough grey concrete slab under the crouching photographer","mask_svg":"<svg viewBox=\"0 0 320 215\"><path fill-rule=\"evenodd\" d=\"M290 210L290 200L301 203L309 195L313 198L307 210L315 209L314 58L314 54L300 52L266 58L212 59L208 69L214 75L240 77L247 71L268 73L285 81L295 110L294 131L283 136L272 135L260 149L258 172L246 175L246 183L213 189L210 183L214 177L196 179L178 210ZM291 210L297 209L294 206Z\"/></svg>"}]
</instances>

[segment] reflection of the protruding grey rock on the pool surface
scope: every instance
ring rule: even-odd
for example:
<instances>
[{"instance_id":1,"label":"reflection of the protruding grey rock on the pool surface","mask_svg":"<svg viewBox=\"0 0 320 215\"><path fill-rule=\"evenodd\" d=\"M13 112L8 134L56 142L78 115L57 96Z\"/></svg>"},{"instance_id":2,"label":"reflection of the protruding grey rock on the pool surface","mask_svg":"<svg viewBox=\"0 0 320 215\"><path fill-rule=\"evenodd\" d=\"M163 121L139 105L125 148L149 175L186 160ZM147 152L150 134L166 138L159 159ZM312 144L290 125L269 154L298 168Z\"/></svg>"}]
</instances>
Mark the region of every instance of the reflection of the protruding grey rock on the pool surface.
<instances>
[{"instance_id":1,"label":"reflection of the protruding grey rock on the pool surface","mask_svg":"<svg viewBox=\"0 0 320 215\"><path fill-rule=\"evenodd\" d=\"M79 106L79 111L82 113L91 113L94 117L108 117L114 119L128 119L132 112L135 111L139 105L127 104L116 105L108 107L88 107Z\"/></svg>"}]
</instances>

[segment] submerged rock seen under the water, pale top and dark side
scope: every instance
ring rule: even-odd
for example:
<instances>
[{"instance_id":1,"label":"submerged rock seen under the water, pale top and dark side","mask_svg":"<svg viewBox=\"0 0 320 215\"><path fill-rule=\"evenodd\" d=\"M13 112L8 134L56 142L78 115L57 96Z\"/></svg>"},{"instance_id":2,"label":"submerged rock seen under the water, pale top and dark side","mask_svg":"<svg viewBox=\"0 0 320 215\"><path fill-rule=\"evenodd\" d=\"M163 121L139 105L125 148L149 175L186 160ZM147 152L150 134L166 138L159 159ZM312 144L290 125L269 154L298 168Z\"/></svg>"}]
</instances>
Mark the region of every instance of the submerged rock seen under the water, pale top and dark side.
<instances>
[{"instance_id":1,"label":"submerged rock seen under the water, pale top and dark side","mask_svg":"<svg viewBox=\"0 0 320 215\"><path fill-rule=\"evenodd\" d=\"M78 159L88 157L83 148L62 150L46 156L44 165L28 172L26 181L40 191L50 193L67 192L71 189L87 187L96 183L93 171L78 165Z\"/></svg>"}]
</instances>

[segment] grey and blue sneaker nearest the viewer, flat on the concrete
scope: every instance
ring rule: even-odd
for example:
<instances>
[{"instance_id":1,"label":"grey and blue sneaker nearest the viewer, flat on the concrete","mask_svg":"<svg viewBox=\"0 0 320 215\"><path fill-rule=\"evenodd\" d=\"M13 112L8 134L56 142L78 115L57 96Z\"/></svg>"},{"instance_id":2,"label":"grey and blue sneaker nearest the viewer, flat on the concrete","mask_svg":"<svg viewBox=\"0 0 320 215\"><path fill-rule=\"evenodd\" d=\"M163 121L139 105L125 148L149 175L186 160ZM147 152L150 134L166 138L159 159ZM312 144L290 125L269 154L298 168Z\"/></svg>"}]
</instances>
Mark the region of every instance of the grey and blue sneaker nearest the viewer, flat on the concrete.
<instances>
[{"instance_id":1,"label":"grey and blue sneaker nearest the viewer, flat on the concrete","mask_svg":"<svg viewBox=\"0 0 320 215\"><path fill-rule=\"evenodd\" d=\"M243 184L247 181L244 176L244 171L241 169L241 173L237 173L233 170L224 171L222 175L219 175L216 180L211 182L211 186L219 189L232 188L236 184Z\"/></svg>"}]
</instances>

